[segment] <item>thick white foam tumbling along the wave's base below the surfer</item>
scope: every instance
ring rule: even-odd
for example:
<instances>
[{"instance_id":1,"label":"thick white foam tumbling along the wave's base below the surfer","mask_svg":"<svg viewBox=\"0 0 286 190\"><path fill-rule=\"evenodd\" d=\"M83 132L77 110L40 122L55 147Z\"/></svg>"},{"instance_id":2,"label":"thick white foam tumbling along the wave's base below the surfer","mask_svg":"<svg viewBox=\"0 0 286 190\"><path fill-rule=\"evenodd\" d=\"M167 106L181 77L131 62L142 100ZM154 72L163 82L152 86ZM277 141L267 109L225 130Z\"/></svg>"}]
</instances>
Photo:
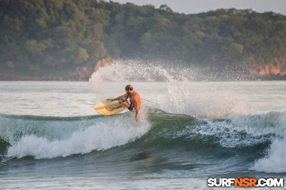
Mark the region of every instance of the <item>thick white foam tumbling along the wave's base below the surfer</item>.
<instances>
[{"instance_id":1,"label":"thick white foam tumbling along the wave's base below the surfer","mask_svg":"<svg viewBox=\"0 0 286 190\"><path fill-rule=\"evenodd\" d=\"M150 124L142 117L139 119L140 123L136 123L131 114L109 117L82 131L75 131L62 140L51 141L44 137L25 135L9 147L7 157L65 157L120 146L148 131Z\"/></svg>"}]
</instances>

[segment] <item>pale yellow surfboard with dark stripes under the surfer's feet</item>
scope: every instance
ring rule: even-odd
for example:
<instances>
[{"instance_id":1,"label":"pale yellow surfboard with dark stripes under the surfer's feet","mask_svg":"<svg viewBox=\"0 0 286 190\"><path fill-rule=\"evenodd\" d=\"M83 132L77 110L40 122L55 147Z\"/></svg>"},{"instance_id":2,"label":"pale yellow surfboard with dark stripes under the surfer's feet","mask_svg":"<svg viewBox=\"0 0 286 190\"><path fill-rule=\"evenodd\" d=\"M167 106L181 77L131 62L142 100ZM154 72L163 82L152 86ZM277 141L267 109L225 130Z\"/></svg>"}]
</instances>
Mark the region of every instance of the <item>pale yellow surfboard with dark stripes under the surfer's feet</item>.
<instances>
[{"instance_id":1,"label":"pale yellow surfboard with dark stripes under the surfer's feet","mask_svg":"<svg viewBox=\"0 0 286 190\"><path fill-rule=\"evenodd\" d=\"M123 108L118 108L118 109L115 109L113 111L108 111L106 110L105 107L115 107L115 106L118 106L120 104L120 102L118 100L115 100L113 102L109 102L107 99L105 100L101 100L99 102L97 102L94 106L94 109L100 113L100 114L103 114L103 115L112 115L112 114L117 114L119 112L122 112L123 110L126 109L126 107L124 106Z\"/></svg>"}]
</instances>

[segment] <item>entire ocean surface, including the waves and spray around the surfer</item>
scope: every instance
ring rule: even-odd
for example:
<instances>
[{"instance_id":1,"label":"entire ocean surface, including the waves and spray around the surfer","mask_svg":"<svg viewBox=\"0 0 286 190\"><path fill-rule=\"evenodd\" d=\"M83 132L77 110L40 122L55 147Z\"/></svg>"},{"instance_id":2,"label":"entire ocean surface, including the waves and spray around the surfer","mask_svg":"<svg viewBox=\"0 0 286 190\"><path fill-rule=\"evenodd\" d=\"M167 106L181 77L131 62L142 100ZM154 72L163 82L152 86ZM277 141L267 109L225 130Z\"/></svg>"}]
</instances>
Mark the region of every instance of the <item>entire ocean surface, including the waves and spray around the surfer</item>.
<instances>
[{"instance_id":1,"label":"entire ocean surface, including the waves and spray around the surfer","mask_svg":"<svg viewBox=\"0 0 286 190\"><path fill-rule=\"evenodd\" d=\"M89 82L0 81L0 189L225 189L207 179L286 178L286 81L195 79L118 61ZM139 123L94 110L127 84L144 99Z\"/></svg>"}]
</instances>

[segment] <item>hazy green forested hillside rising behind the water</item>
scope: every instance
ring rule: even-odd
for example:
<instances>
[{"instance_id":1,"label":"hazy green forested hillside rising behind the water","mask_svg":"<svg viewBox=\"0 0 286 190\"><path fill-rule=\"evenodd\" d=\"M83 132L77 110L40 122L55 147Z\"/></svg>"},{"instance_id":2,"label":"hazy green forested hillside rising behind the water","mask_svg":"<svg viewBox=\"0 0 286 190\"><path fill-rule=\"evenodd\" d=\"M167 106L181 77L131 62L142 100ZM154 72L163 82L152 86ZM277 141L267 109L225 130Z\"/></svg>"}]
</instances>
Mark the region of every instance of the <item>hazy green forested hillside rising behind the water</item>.
<instances>
[{"instance_id":1,"label":"hazy green forested hillside rising behind the water","mask_svg":"<svg viewBox=\"0 0 286 190\"><path fill-rule=\"evenodd\" d=\"M286 16L251 9L185 15L166 5L1 0L0 34L1 80L9 74L68 75L107 57L168 57L223 67L241 59L263 66L286 54Z\"/></svg>"}]
</instances>

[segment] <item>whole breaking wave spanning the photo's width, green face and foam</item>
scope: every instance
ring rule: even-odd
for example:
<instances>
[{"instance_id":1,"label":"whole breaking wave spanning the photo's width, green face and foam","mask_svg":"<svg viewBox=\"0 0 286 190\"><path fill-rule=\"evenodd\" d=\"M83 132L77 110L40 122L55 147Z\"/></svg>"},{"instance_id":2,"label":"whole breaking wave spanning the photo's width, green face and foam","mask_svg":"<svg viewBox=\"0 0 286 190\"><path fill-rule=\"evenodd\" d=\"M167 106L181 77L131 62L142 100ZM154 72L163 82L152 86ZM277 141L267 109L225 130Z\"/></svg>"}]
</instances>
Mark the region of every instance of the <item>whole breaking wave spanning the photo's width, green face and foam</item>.
<instances>
[{"instance_id":1,"label":"whole breaking wave spanning the photo's width, green face and foam","mask_svg":"<svg viewBox=\"0 0 286 190\"><path fill-rule=\"evenodd\" d=\"M145 117L140 118L139 123L133 122L129 112L108 117L1 114L1 147L5 147L2 158L67 157L128 146L128 149L152 150L162 156L166 150L174 150L174 157L180 159L186 153L209 155L216 160L239 155L254 163L252 170L286 172L285 146L282 146L285 143L285 112L227 119L169 114L150 107L142 112ZM187 161L189 156L185 159Z\"/></svg>"}]
</instances>

